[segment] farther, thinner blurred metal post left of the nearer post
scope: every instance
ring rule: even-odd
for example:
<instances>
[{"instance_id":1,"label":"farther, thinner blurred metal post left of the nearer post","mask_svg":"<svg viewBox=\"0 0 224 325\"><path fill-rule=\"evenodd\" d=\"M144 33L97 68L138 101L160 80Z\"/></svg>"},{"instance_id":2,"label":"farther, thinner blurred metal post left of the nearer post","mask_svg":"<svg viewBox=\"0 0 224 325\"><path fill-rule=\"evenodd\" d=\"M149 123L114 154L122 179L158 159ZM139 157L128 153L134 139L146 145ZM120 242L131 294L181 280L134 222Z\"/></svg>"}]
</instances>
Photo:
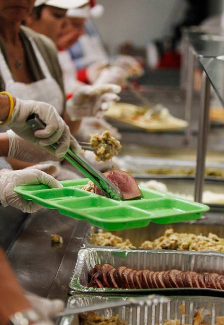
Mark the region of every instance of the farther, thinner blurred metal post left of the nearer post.
<instances>
[{"instance_id":1,"label":"farther, thinner blurred metal post left of the nearer post","mask_svg":"<svg viewBox=\"0 0 224 325\"><path fill-rule=\"evenodd\" d=\"M191 116L192 116L192 100L193 100L193 89L194 89L194 62L195 62L195 51L192 48L192 46L189 46L187 91L186 91L186 104L185 104L185 120L189 123L189 126L185 130L186 144L190 143L192 137Z\"/></svg>"}]
</instances>

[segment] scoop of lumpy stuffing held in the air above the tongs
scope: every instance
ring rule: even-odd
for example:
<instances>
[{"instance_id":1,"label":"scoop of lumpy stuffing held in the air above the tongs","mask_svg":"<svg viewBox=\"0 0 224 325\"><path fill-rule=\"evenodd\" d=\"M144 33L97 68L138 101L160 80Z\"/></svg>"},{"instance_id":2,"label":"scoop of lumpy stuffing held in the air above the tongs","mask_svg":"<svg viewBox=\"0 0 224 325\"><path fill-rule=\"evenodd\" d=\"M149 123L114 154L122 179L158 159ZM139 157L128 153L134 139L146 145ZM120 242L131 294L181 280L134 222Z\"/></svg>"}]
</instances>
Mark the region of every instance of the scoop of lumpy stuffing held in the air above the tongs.
<instances>
[{"instance_id":1,"label":"scoop of lumpy stuffing held in the air above the tongs","mask_svg":"<svg viewBox=\"0 0 224 325\"><path fill-rule=\"evenodd\" d=\"M97 162L105 162L117 156L122 149L120 142L116 140L109 131L104 131L102 135L91 135L90 145L95 149L94 153Z\"/></svg>"}]
</instances>

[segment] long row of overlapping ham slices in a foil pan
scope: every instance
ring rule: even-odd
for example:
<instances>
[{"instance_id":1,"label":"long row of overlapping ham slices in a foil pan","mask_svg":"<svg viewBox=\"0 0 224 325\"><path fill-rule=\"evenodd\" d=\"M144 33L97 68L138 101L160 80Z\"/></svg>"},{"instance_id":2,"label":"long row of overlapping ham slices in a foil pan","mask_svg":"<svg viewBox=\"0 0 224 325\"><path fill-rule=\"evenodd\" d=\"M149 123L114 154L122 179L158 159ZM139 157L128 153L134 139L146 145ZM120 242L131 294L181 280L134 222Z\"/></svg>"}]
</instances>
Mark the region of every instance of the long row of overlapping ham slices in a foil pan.
<instances>
[{"instance_id":1,"label":"long row of overlapping ham slices in a foil pan","mask_svg":"<svg viewBox=\"0 0 224 325\"><path fill-rule=\"evenodd\" d=\"M197 273L193 271L151 271L135 270L109 263L96 264L91 270L90 288L111 289L166 289L166 288L207 288L224 290L224 275Z\"/></svg>"}]
</instances>

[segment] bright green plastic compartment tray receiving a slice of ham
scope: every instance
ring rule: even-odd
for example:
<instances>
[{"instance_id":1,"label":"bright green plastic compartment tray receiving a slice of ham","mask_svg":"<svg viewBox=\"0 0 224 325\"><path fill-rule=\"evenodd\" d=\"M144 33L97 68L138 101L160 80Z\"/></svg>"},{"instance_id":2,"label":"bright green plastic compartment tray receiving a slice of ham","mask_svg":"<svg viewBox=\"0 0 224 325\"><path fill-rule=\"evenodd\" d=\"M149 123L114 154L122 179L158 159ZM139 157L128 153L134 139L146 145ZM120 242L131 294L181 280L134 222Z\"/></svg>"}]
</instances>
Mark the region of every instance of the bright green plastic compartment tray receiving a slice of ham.
<instances>
[{"instance_id":1,"label":"bright green plastic compartment tray receiving a slice of ham","mask_svg":"<svg viewBox=\"0 0 224 325\"><path fill-rule=\"evenodd\" d=\"M199 219L209 210L205 204L191 202L173 195L140 187L142 198L115 201L82 190L89 180L65 180L61 188L45 185L24 185L14 188L24 199L45 208L57 209L61 214L89 223L105 230L122 230L155 223L173 223Z\"/></svg>"}]
</instances>

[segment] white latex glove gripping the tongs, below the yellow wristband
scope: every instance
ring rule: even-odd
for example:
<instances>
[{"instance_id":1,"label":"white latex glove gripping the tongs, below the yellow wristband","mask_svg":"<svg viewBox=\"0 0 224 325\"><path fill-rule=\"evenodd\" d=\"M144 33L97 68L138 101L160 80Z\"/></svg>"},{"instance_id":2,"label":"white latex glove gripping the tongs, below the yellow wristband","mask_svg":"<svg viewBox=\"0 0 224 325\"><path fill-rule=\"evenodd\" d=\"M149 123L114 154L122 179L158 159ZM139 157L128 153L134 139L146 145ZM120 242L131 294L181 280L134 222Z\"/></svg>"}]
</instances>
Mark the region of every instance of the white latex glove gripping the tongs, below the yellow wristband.
<instances>
[{"instance_id":1,"label":"white latex glove gripping the tongs, below the yellow wristband","mask_svg":"<svg viewBox=\"0 0 224 325\"><path fill-rule=\"evenodd\" d=\"M34 113L38 114L39 118L46 124L44 130L38 130L35 133L26 124L26 119ZM43 147L56 157L63 157L69 146L76 153L81 151L77 141L71 136L68 126L58 115L55 108L49 104L16 98L16 104L8 125L18 136ZM59 142L56 151L49 146L55 142Z\"/></svg>"}]
</instances>

